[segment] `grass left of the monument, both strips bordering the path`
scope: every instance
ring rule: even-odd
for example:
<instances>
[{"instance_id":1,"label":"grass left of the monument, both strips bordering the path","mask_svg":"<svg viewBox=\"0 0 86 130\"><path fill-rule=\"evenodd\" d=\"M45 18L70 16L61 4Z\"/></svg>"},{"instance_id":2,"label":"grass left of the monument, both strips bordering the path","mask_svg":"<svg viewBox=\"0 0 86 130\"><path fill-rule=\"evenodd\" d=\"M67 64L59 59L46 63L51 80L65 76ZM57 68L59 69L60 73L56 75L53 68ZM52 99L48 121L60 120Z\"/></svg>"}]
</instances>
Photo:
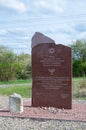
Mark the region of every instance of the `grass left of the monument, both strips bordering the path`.
<instances>
[{"instance_id":1,"label":"grass left of the monument, both strips bordering the path","mask_svg":"<svg viewBox=\"0 0 86 130\"><path fill-rule=\"evenodd\" d=\"M28 85L25 85L26 83ZM0 94L9 96L13 93L17 93L17 94L20 94L22 97L29 98L29 97L31 97L31 93L32 93L31 92L31 86L32 86L31 83L32 83L31 79L0 82L0 85L8 85L8 84L13 85L13 86L7 87L7 88L0 88ZM22 86L18 86L18 84L19 85L22 84Z\"/></svg>"}]
</instances>

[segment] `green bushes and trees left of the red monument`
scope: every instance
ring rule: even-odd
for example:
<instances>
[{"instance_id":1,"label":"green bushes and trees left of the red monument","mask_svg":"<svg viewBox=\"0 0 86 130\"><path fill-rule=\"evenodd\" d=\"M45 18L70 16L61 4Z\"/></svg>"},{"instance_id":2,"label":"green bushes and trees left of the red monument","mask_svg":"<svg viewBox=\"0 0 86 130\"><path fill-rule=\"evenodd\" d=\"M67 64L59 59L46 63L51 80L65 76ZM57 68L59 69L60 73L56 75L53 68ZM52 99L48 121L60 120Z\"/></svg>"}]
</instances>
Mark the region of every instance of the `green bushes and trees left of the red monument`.
<instances>
[{"instance_id":1,"label":"green bushes and trees left of the red monument","mask_svg":"<svg viewBox=\"0 0 86 130\"><path fill-rule=\"evenodd\" d=\"M0 81L31 78L31 56L0 46Z\"/></svg>"}]
</instances>

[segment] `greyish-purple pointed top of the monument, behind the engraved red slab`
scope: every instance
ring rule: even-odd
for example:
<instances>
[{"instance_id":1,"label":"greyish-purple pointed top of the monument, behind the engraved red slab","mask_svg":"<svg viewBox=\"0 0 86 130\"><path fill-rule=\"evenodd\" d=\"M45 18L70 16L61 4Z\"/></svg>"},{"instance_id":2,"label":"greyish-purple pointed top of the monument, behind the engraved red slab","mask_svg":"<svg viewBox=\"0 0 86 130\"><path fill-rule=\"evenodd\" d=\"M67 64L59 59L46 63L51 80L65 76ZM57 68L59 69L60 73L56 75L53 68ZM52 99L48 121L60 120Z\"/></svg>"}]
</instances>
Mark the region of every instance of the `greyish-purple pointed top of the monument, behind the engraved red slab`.
<instances>
[{"instance_id":1,"label":"greyish-purple pointed top of the monument, behind the engraved red slab","mask_svg":"<svg viewBox=\"0 0 86 130\"><path fill-rule=\"evenodd\" d=\"M41 44L41 43L54 43L55 44L55 41L40 32L36 32L32 37L31 47L33 48L36 45Z\"/></svg>"}]
</instances>

